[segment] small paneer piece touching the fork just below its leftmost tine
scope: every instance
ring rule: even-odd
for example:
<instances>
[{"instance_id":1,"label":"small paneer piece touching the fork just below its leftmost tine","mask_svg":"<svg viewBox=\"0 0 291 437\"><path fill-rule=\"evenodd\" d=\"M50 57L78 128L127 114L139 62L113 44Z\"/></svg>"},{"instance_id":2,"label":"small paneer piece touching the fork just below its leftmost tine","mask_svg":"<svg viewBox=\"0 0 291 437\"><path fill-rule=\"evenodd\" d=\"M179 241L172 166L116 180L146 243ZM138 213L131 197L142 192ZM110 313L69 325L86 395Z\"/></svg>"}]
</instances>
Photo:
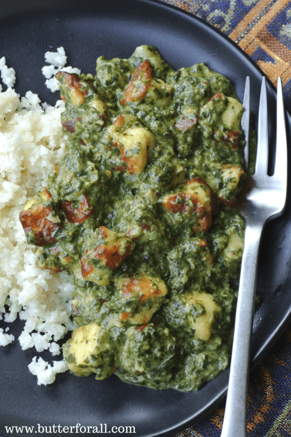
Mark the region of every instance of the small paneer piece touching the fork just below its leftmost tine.
<instances>
[{"instance_id":1,"label":"small paneer piece touching the fork just below its leftmost tine","mask_svg":"<svg viewBox=\"0 0 291 437\"><path fill-rule=\"evenodd\" d=\"M221 177L224 183L218 192L218 198L225 206L232 206L235 202L235 194L242 176L245 174L240 165L224 164L221 170Z\"/></svg>"}]
</instances>

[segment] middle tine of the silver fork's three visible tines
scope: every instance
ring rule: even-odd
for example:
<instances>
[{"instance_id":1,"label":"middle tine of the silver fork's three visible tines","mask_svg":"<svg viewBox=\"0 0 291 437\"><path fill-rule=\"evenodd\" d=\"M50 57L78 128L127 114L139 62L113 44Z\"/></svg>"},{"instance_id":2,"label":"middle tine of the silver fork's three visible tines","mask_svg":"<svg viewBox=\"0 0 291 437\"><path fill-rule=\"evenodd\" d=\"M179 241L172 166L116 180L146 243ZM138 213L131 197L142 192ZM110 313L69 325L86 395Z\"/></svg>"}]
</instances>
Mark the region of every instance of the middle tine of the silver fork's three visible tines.
<instances>
[{"instance_id":1,"label":"middle tine of the silver fork's three visible tines","mask_svg":"<svg viewBox=\"0 0 291 437\"><path fill-rule=\"evenodd\" d=\"M263 77L260 95L259 117L258 117L258 149L255 166L255 175L267 174L268 170L268 110L267 110L267 89L266 78Z\"/></svg>"}]
</instances>

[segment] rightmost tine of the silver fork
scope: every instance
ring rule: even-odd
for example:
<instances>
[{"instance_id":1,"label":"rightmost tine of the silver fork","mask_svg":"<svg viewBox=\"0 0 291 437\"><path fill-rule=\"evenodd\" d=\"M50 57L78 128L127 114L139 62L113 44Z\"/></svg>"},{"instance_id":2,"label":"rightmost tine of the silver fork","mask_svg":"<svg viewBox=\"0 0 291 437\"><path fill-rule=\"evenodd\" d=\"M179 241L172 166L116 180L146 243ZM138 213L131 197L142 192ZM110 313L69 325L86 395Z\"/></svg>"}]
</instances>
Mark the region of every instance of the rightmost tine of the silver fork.
<instances>
[{"instance_id":1,"label":"rightmost tine of the silver fork","mask_svg":"<svg viewBox=\"0 0 291 437\"><path fill-rule=\"evenodd\" d=\"M278 77L277 83L277 131L274 176L280 180L282 188L287 186L287 136L281 77Z\"/></svg>"}]
</instances>

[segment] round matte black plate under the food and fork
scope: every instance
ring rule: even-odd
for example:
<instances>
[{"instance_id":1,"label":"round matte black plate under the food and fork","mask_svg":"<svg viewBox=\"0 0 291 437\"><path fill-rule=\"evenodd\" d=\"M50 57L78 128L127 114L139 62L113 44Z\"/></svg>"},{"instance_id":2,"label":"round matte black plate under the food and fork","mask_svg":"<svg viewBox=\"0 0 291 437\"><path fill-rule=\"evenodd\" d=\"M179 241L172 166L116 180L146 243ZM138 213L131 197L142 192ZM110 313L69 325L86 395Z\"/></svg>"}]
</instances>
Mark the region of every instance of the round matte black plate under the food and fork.
<instances>
[{"instance_id":1,"label":"round matte black plate under the food and fork","mask_svg":"<svg viewBox=\"0 0 291 437\"><path fill-rule=\"evenodd\" d=\"M229 77L243 98L246 75L251 78L252 111L256 118L262 72L226 37L201 20L164 3L147 0L1 0L0 56L17 73L17 92L32 90L44 101L54 103L57 93L45 88L41 68L47 50L64 46L68 65L94 73L97 56L129 57L136 46L157 46L175 69L205 62ZM275 102L268 83L271 108ZM290 116L287 115L288 131ZM270 130L273 138L274 127ZM290 201L289 201L290 204ZM271 222L263 236L259 261L258 291L262 305L255 315L252 364L255 365L273 344L291 316L291 213ZM0 324L1 326L1 324ZM14 324L12 332L21 332ZM194 393L155 391L127 385L116 376L97 382L94 377L59 375L51 386L37 386L27 365L35 351L22 351L18 344L0 348L0 433L7 426L35 426L32 434L50 435L53 428L105 424L107 430L125 433L135 427L134 436L168 436L189 426L216 406L227 388L228 370ZM42 355L46 358L46 354ZM47 359L48 356L47 356ZM118 431L118 427L120 428ZM84 433L70 436L90 436ZM73 429L71 430L73 431ZM129 430L128 430L129 431ZM14 435L26 433L14 432Z\"/></svg>"}]
</instances>

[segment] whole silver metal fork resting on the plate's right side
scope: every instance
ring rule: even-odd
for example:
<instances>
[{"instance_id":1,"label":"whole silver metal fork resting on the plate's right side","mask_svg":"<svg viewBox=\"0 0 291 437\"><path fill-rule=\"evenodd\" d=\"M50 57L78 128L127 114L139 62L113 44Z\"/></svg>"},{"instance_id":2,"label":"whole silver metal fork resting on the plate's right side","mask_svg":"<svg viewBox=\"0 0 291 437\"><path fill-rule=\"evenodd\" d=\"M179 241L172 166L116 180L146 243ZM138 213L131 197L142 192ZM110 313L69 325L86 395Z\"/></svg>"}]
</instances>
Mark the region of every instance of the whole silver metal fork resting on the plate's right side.
<instances>
[{"instance_id":1,"label":"whole silver metal fork resting on the plate's right side","mask_svg":"<svg viewBox=\"0 0 291 437\"><path fill-rule=\"evenodd\" d=\"M249 78L246 79L244 106L249 125ZM248 142L248 141L247 141ZM230 376L221 437L246 437L247 387L250 343L260 239L265 224L281 215L287 195L287 138L281 79L277 84L277 128L275 168L268 175L268 115L265 77L262 81L255 173L240 211L246 220L245 245L235 318Z\"/></svg>"}]
</instances>

